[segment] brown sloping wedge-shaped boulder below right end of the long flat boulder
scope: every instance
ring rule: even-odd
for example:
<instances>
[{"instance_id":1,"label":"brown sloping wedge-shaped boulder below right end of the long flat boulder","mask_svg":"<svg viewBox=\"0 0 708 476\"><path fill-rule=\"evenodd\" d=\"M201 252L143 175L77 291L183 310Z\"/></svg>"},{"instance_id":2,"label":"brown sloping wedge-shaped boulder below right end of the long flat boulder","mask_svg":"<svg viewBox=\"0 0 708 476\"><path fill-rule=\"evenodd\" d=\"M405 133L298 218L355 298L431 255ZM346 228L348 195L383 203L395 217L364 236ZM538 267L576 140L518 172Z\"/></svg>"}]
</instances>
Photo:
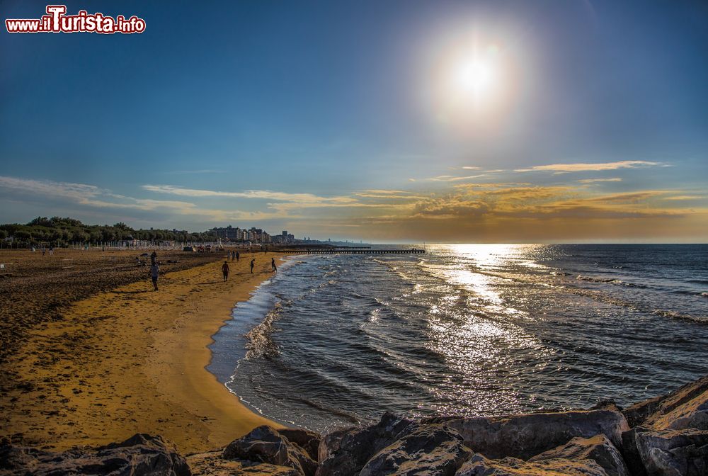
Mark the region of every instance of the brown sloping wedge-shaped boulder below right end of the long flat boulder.
<instances>
[{"instance_id":1,"label":"brown sloping wedge-shaped boulder below right end of the long flat boulder","mask_svg":"<svg viewBox=\"0 0 708 476\"><path fill-rule=\"evenodd\" d=\"M605 435L573 438L563 446L535 455L529 462L556 459L593 460L603 467L607 476L629 476L622 455Z\"/></svg>"}]
</instances>

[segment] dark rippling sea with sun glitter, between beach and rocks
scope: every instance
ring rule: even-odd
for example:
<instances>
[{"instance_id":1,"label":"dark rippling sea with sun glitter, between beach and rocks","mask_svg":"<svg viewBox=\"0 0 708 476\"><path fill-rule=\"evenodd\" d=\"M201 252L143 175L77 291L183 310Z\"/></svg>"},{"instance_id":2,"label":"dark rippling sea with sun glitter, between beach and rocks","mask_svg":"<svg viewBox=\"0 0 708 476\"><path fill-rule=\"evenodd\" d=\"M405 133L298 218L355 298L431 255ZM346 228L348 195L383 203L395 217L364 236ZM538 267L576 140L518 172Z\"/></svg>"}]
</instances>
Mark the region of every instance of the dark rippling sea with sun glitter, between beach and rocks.
<instances>
[{"instance_id":1,"label":"dark rippling sea with sun glitter, between beach and rocks","mask_svg":"<svg viewBox=\"0 0 708 476\"><path fill-rule=\"evenodd\" d=\"M292 257L236 305L208 370L321 433L627 406L708 374L706 244L425 249Z\"/></svg>"}]
</instances>

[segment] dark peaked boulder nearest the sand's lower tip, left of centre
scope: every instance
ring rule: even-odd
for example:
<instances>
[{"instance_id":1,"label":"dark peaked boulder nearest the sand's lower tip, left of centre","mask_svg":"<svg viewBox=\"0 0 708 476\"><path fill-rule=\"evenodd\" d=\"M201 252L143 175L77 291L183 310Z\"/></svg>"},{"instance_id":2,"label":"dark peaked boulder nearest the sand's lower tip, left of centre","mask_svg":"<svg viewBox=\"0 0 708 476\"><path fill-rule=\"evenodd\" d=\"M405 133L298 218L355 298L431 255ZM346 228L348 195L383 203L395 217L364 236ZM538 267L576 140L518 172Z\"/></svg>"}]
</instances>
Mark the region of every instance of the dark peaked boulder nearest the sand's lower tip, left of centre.
<instances>
[{"instance_id":1,"label":"dark peaked boulder nearest the sand's lower tip, left of centre","mask_svg":"<svg viewBox=\"0 0 708 476\"><path fill-rule=\"evenodd\" d=\"M258 426L243 438L229 443L224 448L223 458L292 467L304 476L314 475L317 469L316 461L307 451L266 425Z\"/></svg>"}]
</instances>

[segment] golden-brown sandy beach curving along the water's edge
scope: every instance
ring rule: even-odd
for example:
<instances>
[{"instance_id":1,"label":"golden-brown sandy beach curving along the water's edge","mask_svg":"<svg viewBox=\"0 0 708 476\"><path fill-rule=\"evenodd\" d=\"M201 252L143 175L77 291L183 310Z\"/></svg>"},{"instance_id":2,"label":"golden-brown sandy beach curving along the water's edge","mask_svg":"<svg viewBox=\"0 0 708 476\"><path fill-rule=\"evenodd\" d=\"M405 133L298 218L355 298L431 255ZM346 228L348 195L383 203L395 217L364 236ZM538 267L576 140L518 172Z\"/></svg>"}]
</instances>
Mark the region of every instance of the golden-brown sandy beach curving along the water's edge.
<instances>
[{"instance_id":1,"label":"golden-brown sandy beach curving along the water's edge","mask_svg":"<svg viewBox=\"0 0 708 476\"><path fill-rule=\"evenodd\" d=\"M229 261L226 283L212 256L161 276L157 292L143 269L144 279L72 302L27 331L3 361L16 385L4 385L0 436L63 450L142 432L189 453L273 424L205 370L211 336L270 276L271 255L254 255L253 274L251 256Z\"/></svg>"}]
</instances>

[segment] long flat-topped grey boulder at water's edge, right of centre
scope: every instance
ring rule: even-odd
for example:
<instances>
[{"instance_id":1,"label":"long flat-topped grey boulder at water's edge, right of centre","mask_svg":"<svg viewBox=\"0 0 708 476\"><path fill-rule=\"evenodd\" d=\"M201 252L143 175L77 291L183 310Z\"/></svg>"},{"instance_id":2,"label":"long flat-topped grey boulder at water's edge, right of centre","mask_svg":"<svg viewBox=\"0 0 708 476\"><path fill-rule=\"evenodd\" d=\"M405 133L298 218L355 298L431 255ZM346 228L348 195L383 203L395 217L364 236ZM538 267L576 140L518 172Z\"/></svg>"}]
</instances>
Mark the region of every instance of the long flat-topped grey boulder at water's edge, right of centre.
<instances>
[{"instance_id":1,"label":"long flat-topped grey boulder at water's edge, right of centre","mask_svg":"<svg viewBox=\"0 0 708 476\"><path fill-rule=\"evenodd\" d=\"M494 418L451 419L445 423L464 438L464 444L487 458L507 456L526 460L573 438L604 434L615 446L622 443L627 420L612 410L537 413Z\"/></svg>"}]
</instances>

